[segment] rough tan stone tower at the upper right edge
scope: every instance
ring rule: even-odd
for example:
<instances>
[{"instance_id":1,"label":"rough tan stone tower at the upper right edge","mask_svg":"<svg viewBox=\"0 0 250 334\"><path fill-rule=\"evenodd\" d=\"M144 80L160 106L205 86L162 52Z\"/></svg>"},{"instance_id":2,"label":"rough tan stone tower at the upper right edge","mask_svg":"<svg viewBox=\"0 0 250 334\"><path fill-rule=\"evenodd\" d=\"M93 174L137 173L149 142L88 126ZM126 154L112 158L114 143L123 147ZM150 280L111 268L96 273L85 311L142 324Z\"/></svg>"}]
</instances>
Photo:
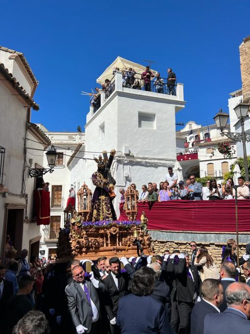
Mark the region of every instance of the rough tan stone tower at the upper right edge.
<instances>
[{"instance_id":1,"label":"rough tan stone tower at the upper right edge","mask_svg":"<svg viewBox=\"0 0 250 334\"><path fill-rule=\"evenodd\" d=\"M243 102L250 103L250 35L243 39L239 49Z\"/></svg>"}]
</instances>

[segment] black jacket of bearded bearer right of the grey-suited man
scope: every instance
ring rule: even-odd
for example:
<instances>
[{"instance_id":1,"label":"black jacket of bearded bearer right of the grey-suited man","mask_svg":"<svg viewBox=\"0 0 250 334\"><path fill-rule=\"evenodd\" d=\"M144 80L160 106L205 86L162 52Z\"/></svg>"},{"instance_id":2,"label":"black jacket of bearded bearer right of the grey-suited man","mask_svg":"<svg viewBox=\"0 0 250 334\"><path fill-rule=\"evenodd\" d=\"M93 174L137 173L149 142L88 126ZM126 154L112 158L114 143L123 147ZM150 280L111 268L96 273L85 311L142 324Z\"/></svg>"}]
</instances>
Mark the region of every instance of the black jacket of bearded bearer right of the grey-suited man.
<instances>
[{"instance_id":1,"label":"black jacket of bearded bearer right of the grey-suited man","mask_svg":"<svg viewBox=\"0 0 250 334\"><path fill-rule=\"evenodd\" d=\"M118 309L118 301L121 297L126 296L129 286L129 275L128 273L120 273L118 284L119 290L115 285L112 274L110 273L105 280L103 281L105 284L105 309L108 315L109 320L112 320L117 315Z\"/></svg>"}]
</instances>

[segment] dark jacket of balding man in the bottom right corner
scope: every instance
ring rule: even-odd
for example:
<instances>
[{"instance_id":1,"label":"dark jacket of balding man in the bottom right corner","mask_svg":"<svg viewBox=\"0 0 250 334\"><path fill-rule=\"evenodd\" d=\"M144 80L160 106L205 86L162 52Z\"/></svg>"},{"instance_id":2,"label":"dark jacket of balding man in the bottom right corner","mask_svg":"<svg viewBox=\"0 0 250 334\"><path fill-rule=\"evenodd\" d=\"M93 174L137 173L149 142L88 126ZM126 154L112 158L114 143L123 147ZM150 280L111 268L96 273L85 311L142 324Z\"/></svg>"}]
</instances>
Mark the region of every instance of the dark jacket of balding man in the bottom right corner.
<instances>
[{"instance_id":1,"label":"dark jacket of balding man in the bottom right corner","mask_svg":"<svg viewBox=\"0 0 250 334\"><path fill-rule=\"evenodd\" d=\"M204 319L204 334L249 332L250 321L237 309L227 308L223 313L207 314Z\"/></svg>"}]
</instances>

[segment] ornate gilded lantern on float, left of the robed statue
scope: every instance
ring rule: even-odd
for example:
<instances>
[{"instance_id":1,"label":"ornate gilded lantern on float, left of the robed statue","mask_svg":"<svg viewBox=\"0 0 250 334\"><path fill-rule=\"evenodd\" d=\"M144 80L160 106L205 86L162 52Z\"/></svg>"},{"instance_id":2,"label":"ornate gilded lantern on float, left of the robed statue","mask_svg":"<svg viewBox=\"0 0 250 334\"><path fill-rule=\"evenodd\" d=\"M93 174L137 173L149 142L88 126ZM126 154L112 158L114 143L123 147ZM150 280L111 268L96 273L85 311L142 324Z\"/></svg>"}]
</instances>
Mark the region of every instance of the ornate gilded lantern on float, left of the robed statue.
<instances>
[{"instance_id":1,"label":"ornate gilded lantern on float, left of the robed statue","mask_svg":"<svg viewBox=\"0 0 250 334\"><path fill-rule=\"evenodd\" d=\"M92 192L85 182L77 193L77 199L78 213L83 216L84 221L88 221L91 214Z\"/></svg>"}]
</instances>

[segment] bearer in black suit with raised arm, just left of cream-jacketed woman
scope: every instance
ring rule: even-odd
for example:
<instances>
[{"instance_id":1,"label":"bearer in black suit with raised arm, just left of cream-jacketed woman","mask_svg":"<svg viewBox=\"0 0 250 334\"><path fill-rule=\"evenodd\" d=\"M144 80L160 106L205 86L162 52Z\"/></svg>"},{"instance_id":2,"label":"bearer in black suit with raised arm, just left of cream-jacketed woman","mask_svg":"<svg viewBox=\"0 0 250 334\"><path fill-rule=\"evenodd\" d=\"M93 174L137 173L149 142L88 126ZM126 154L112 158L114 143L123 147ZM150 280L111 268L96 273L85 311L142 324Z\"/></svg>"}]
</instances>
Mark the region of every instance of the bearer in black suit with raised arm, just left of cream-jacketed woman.
<instances>
[{"instance_id":1,"label":"bearer in black suit with raised arm, just left of cream-jacketed woman","mask_svg":"<svg viewBox=\"0 0 250 334\"><path fill-rule=\"evenodd\" d=\"M170 256L167 265L168 273L172 271L176 281L176 306L172 305L171 308L171 326L176 332L186 334L190 331L190 315L194 301L199 295L200 279L198 272L190 267L187 252L181 252L178 256L179 262L176 261L176 264L173 262L173 256Z\"/></svg>"}]
</instances>

